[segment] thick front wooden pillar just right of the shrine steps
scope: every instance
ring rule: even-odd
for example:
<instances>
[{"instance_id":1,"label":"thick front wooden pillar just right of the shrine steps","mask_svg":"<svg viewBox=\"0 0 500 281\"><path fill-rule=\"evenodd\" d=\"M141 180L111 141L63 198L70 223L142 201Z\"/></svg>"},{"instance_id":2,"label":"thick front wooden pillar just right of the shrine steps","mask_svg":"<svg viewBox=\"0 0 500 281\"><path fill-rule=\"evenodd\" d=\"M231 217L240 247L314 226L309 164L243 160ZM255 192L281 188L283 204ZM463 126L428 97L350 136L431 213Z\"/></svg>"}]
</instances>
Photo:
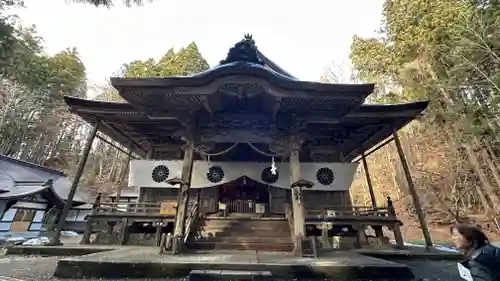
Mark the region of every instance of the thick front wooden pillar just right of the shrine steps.
<instances>
[{"instance_id":1,"label":"thick front wooden pillar just right of the shrine steps","mask_svg":"<svg viewBox=\"0 0 500 281\"><path fill-rule=\"evenodd\" d=\"M294 255L302 256L302 243L306 237L305 209L302 201L302 186L296 184L300 181L299 151L302 142L298 139L292 140L292 151L290 153L290 170L292 183L292 212L294 230Z\"/></svg>"}]
</instances>

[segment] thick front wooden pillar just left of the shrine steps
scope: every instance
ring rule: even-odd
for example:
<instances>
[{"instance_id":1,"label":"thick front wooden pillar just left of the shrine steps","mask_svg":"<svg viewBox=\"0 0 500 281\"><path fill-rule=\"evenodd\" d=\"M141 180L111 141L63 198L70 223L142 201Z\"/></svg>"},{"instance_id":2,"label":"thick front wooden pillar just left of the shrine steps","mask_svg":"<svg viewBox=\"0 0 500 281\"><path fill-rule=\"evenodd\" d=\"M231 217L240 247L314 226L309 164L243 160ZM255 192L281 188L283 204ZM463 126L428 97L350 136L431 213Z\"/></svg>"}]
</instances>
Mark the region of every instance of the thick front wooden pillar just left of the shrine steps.
<instances>
[{"instance_id":1,"label":"thick front wooden pillar just left of the shrine steps","mask_svg":"<svg viewBox=\"0 0 500 281\"><path fill-rule=\"evenodd\" d=\"M191 174L193 171L194 143L188 141L184 147L184 159L182 161L182 176L180 190L177 198L177 213L175 216L174 240L172 253L181 253L184 248L184 228L186 223L187 205L189 202L189 187L191 185Z\"/></svg>"}]
</instances>

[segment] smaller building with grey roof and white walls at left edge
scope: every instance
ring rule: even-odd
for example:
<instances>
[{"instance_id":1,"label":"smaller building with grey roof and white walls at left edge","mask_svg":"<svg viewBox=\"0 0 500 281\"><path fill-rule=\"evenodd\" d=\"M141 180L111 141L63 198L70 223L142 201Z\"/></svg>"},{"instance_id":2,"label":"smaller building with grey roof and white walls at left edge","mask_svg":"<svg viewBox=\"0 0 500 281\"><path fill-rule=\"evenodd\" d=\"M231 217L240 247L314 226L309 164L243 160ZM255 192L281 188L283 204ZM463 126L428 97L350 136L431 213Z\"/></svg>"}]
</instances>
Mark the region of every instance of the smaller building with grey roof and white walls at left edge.
<instances>
[{"instance_id":1,"label":"smaller building with grey roof and white walls at left edge","mask_svg":"<svg viewBox=\"0 0 500 281\"><path fill-rule=\"evenodd\" d=\"M70 187L71 180L60 171L0 155L0 239L50 231ZM78 190L72 201L64 230L83 232L91 196Z\"/></svg>"}]
</instances>

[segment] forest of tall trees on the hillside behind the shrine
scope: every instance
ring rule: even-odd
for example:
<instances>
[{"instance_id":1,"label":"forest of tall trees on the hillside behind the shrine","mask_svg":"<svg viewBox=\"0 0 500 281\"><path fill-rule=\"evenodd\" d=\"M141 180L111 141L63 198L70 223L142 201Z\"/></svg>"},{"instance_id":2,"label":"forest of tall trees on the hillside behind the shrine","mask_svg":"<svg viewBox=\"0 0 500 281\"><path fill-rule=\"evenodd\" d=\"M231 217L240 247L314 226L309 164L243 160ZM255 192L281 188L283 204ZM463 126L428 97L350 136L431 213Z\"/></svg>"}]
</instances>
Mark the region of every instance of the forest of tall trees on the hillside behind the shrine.
<instances>
[{"instance_id":1,"label":"forest of tall trees on the hillside behind the shrine","mask_svg":"<svg viewBox=\"0 0 500 281\"><path fill-rule=\"evenodd\" d=\"M75 2L112 9L109 0ZM86 98L85 66L75 48L45 55L35 28L7 15L19 5L21 0L0 0L0 154L72 175L89 127L69 113L62 98ZM369 103L429 99L426 114L400 137L431 235L446 240L448 226L456 222L477 223L497 235L500 0L387 0L382 16L378 36L355 36L350 62L331 64L318 80L376 83ZM159 60L117 66L113 76L187 75L208 68L193 42L166 50ZM101 90L95 99L121 100L111 86ZM96 194L126 185L126 160L96 140L82 186ZM371 154L368 166L379 205L392 197L407 240L421 240L394 145ZM357 205L371 204L362 169L351 193Z\"/></svg>"}]
</instances>

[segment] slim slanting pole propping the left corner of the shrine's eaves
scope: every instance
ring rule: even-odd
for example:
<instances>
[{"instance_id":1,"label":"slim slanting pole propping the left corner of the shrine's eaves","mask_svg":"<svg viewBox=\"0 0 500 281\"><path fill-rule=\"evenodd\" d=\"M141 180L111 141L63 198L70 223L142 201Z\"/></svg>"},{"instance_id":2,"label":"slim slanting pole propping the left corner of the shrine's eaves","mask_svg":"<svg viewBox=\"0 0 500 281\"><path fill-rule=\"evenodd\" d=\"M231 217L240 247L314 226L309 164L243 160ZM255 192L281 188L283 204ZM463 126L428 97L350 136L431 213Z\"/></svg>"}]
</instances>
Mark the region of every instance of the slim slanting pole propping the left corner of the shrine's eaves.
<instances>
[{"instance_id":1,"label":"slim slanting pole propping the left corner of the shrine's eaves","mask_svg":"<svg viewBox=\"0 0 500 281\"><path fill-rule=\"evenodd\" d=\"M99 122L95 124L92 128L92 131L87 137L87 142L85 143L85 147L83 149L82 159L80 159L80 163L78 163L78 168L76 170L75 178L73 179L73 183L71 184L71 188L68 193L68 198L66 199L66 203L64 204L64 208L61 212L61 217L57 221L57 226L54 235L50 241L51 245L60 245L61 241L61 231L66 223L66 217L68 216L69 209L71 209L73 205L73 197L75 197L76 189L78 188L78 183L80 182L80 178L82 177L83 170L85 169L85 164L87 163L87 159L89 157L90 149L92 148L92 143L94 142L94 138L97 134L97 130L99 129Z\"/></svg>"}]
</instances>

